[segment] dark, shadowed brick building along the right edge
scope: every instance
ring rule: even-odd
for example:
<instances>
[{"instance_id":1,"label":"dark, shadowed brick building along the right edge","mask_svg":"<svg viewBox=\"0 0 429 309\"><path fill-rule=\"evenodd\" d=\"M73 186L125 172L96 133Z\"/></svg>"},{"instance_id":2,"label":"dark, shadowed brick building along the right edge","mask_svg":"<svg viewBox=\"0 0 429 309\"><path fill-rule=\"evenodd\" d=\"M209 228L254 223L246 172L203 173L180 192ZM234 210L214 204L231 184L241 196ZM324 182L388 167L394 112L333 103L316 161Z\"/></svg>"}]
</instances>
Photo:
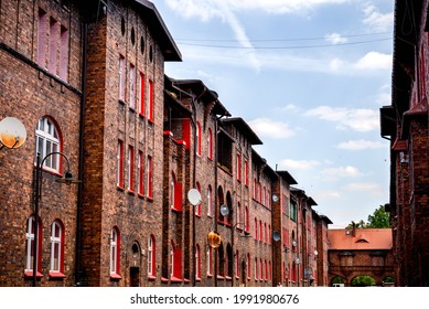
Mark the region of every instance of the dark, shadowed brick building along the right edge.
<instances>
[{"instance_id":1,"label":"dark, shadowed brick building along the right edge","mask_svg":"<svg viewBox=\"0 0 429 309\"><path fill-rule=\"evenodd\" d=\"M390 140L390 211L396 285L429 285L428 1L396 1L392 105L380 109ZM405 31L407 24L407 31Z\"/></svg>"}]
</instances>

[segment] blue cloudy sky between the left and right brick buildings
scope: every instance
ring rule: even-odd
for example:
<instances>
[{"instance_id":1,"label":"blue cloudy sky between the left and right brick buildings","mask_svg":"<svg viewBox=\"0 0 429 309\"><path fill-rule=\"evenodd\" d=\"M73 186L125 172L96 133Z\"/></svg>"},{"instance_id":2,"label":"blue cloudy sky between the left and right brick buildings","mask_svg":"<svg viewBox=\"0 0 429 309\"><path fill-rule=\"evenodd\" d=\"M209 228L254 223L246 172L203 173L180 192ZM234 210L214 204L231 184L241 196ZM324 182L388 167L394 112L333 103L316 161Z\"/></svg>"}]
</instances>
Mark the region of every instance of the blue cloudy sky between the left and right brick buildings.
<instances>
[{"instance_id":1,"label":"blue cloudy sky between the left and right brick buildings","mask_svg":"<svg viewBox=\"0 0 429 309\"><path fill-rule=\"evenodd\" d=\"M201 79L342 228L388 202L392 0L154 0L182 54L165 64Z\"/></svg>"}]
</instances>

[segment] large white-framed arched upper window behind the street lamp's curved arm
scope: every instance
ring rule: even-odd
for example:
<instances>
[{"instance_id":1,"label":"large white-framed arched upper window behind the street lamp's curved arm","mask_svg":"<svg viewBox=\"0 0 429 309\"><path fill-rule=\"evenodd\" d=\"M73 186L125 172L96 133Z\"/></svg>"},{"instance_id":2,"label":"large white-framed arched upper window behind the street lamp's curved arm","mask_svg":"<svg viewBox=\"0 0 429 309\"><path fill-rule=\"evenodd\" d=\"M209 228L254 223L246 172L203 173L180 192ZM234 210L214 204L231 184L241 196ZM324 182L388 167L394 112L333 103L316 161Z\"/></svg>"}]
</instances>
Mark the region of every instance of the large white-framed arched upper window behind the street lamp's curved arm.
<instances>
[{"instance_id":1,"label":"large white-framed arched upper window behind the street lamp's curved arm","mask_svg":"<svg viewBox=\"0 0 429 309\"><path fill-rule=\"evenodd\" d=\"M51 152L61 151L60 132L54 121L47 117L39 119L35 130L35 153L40 153L41 160ZM50 156L43 162L44 169L60 172L60 156Z\"/></svg>"}]
</instances>

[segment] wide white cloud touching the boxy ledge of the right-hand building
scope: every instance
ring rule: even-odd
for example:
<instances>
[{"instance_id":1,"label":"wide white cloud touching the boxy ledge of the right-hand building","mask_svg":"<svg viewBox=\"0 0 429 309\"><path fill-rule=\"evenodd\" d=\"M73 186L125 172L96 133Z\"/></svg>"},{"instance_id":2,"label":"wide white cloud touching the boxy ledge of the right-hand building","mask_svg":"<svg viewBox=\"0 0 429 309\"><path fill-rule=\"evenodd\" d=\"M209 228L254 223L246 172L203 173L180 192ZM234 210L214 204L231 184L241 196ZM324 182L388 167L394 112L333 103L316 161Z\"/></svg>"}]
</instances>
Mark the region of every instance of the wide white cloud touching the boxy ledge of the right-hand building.
<instances>
[{"instance_id":1,"label":"wide white cloud touching the boxy ledge of the right-hand building","mask_svg":"<svg viewBox=\"0 0 429 309\"><path fill-rule=\"evenodd\" d=\"M319 106L305 113L305 116L336 124L337 129L352 129L367 132L379 128L379 115L374 109L347 109L341 107Z\"/></svg>"}]
</instances>

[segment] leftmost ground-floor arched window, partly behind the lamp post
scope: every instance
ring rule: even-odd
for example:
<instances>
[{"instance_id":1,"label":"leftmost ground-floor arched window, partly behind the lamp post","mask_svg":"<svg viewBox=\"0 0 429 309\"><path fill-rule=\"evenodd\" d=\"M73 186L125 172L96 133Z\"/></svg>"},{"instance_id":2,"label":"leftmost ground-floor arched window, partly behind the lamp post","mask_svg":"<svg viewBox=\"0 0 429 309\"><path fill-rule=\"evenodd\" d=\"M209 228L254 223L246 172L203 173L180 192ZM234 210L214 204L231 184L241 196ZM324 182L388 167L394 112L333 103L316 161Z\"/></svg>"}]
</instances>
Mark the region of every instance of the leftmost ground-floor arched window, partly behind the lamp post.
<instances>
[{"instance_id":1,"label":"leftmost ground-floor arched window, partly behind the lamp post","mask_svg":"<svg viewBox=\"0 0 429 309\"><path fill-rule=\"evenodd\" d=\"M42 263L41 263L41 245L42 245L42 224L39 220L37 224L37 262L36 262L36 270L41 273ZM35 236L35 220L34 216L30 216L26 221L26 233L25 233L25 275L33 276L33 263L34 263L34 236Z\"/></svg>"}]
</instances>

